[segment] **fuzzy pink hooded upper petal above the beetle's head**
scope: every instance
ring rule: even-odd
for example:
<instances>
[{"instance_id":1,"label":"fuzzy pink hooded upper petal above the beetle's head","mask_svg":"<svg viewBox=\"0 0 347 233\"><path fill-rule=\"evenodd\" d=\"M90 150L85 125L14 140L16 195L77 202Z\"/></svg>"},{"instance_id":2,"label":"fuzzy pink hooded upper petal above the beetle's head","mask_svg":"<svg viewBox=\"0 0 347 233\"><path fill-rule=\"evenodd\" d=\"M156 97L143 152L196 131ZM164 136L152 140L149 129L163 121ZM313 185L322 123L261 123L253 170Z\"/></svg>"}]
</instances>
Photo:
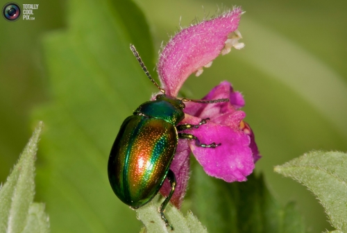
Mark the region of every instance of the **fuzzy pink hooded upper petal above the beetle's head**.
<instances>
[{"instance_id":1,"label":"fuzzy pink hooded upper petal above the beetle's head","mask_svg":"<svg viewBox=\"0 0 347 233\"><path fill-rule=\"evenodd\" d=\"M176 34L160 54L158 74L167 95L177 96L190 74L217 58L237 29L241 8L217 18L189 26Z\"/></svg>"}]
</instances>

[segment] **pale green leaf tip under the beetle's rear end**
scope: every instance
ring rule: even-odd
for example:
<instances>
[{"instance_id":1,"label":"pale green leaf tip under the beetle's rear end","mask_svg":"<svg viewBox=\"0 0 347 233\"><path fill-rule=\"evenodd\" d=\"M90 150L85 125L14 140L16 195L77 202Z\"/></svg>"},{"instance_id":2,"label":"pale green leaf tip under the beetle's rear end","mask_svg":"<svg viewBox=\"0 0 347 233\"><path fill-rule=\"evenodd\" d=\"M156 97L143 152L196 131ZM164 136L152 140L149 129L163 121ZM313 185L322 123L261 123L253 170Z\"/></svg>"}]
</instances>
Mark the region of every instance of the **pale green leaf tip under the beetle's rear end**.
<instances>
[{"instance_id":1,"label":"pale green leaf tip under the beetle's rear end","mask_svg":"<svg viewBox=\"0 0 347 233\"><path fill-rule=\"evenodd\" d=\"M206 228L201 225L198 219L188 212L187 216L173 207L171 204L167 205L165 209L165 216L169 223L174 227L174 231L171 231L169 227L166 227L160 214L158 213L158 207L162 204L164 198L157 195L149 204L144 205L137 210L137 218L146 226L146 232L148 233L162 233L162 232L182 232L182 233L203 233L208 232Z\"/></svg>"}]
</instances>

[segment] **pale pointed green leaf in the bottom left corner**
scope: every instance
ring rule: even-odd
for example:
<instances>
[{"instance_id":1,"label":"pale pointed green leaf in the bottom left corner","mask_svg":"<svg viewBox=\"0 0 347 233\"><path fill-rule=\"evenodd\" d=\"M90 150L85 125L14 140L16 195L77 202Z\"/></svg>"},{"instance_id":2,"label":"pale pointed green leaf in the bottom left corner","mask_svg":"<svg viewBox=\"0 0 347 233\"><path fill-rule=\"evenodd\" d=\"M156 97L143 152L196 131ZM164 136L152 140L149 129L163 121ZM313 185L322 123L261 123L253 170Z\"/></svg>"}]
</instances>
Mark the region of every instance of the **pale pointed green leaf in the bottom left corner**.
<instances>
[{"instance_id":1,"label":"pale pointed green leaf in the bottom left corner","mask_svg":"<svg viewBox=\"0 0 347 233\"><path fill-rule=\"evenodd\" d=\"M33 202L35 159L43 123L39 123L8 180L0 189L0 232L49 232L44 204Z\"/></svg>"}]
</instances>

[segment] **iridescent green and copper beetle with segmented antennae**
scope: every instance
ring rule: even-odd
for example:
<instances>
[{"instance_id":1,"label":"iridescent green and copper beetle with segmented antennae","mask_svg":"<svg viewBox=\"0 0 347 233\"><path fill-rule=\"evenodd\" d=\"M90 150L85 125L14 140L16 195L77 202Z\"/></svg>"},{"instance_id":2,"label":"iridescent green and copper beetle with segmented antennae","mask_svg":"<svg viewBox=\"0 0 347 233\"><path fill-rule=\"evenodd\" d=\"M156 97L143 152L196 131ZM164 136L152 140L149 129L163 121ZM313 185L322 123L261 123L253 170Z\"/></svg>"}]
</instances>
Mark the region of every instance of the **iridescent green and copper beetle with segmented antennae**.
<instances>
[{"instance_id":1,"label":"iridescent green and copper beetle with segmented antennae","mask_svg":"<svg viewBox=\"0 0 347 233\"><path fill-rule=\"evenodd\" d=\"M208 121L203 119L198 125L178 126L185 118L183 101L220 103L229 100L221 98L196 101L166 96L164 89L151 78L135 46L130 44L130 49L146 75L163 94L158 94L155 101L147 101L137 107L133 115L128 116L122 123L108 159L108 179L117 197L126 205L137 209L154 198L167 178L171 184L171 191L160 205L159 212L165 225L174 230L163 212L176 187L175 174L170 170L170 164L176 152L178 139L195 140L196 145L206 148L221 145L214 142L201 144L194 135L180 132L198 128Z\"/></svg>"}]
</instances>

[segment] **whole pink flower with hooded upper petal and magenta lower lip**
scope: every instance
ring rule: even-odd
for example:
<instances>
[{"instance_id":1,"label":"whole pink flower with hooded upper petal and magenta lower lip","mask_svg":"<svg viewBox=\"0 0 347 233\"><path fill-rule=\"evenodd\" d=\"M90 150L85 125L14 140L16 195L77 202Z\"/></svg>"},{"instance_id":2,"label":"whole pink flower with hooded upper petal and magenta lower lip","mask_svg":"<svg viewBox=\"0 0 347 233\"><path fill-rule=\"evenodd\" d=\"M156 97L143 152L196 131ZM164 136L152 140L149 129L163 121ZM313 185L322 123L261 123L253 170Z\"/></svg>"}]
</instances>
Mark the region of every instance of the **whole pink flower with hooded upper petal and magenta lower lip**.
<instances>
[{"instance_id":1,"label":"whole pink flower with hooded upper petal and magenta lower lip","mask_svg":"<svg viewBox=\"0 0 347 233\"><path fill-rule=\"evenodd\" d=\"M230 52L231 47L241 49L241 34L237 31L241 8L220 15L200 24L185 28L176 34L160 54L158 73L161 87L168 96L177 97L188 76L203 72L210 67L212 60L222 53ZM230 83L223 81L214 87L203 100L229 98L222 103L185 103L185 119L181 123L198 124L202 119L210 120L199 128L183 132L198 137L203 144L221 144L217 148L196 146L194 140L180 139L174 161L170 169L176 175L176 189L171 202L180 207L189 178L189 154L192 152L208 175L226 182L245 181L260 158L254 134L246 122L246 114L239 110L244 106L244 98L234 92ZM167 180L160 189L167 196L171 190Z\"/></svg>"}]
</instances>

